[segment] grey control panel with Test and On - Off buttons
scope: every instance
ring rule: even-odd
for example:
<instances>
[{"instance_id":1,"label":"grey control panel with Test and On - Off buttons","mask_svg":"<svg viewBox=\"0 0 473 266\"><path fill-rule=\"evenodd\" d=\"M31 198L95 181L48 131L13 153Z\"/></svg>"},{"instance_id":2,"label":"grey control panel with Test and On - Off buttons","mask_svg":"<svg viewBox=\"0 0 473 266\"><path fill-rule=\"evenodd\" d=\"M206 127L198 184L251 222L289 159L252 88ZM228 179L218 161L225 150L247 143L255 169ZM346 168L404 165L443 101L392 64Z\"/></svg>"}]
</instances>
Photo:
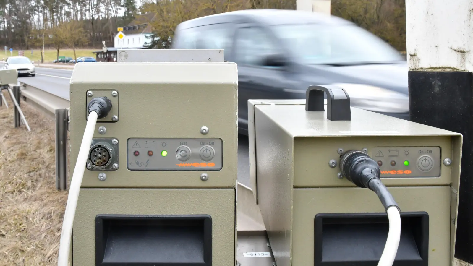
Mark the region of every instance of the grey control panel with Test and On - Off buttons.
<instances>
[{"instance_id":1,"label":"grey control panel with Test and On - Off buttons","mask_svg":"<svg viewBox=\"0 0 473 266\"><path fill-rule=\"evenodd\" d=\"M222 140L219 138L130 138L127 141L130 170L220 170Z\"/></svg>"}]
</instances>

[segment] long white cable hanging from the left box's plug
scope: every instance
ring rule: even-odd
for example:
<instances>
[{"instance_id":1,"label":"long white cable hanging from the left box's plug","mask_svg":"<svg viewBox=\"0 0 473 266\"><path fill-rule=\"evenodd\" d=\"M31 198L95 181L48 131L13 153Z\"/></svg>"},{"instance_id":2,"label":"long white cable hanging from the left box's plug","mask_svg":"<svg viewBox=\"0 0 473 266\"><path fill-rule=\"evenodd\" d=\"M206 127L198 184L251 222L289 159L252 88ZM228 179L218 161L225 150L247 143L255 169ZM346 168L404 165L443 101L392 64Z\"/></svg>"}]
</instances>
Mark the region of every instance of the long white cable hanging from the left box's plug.
<instances>
[{"instance_id":1,"label":"long white cable hanging from the left box's plug","mask_svg":"<svg viewBox=\"0 0 473 266\"><path fill-rule=\"evenodd\" d=\"M72 224L74 223L74 215L76 213L77 200L79 198L80 185L84 177L84 171L87 164L90 143L95 132L97 123L97 113L91 112L87 119L84 137L80 144L79 155L77 156L76 166L72 179L70 181L69 195L67 197L66 212L62 222L61 242L59 244L58 266L68 266L69 250L72 234Z\"/></svg>"}]
</instances>

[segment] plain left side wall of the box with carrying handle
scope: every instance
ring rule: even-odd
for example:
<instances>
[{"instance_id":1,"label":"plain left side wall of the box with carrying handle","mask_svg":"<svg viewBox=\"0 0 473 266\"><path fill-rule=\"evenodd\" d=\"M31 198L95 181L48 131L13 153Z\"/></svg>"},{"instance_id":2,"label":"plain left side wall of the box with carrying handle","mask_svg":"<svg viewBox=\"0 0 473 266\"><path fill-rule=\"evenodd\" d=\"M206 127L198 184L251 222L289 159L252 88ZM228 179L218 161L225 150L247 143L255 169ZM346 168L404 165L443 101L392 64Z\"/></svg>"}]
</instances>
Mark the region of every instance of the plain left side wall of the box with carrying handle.
<instances>
[{"instance_id":1,"label":"plain left side wall of the box with carrying handle","mask_svg":"<svg viewBox=\"0 0 473 266\"><path fill-rule=\"evenodd\" d=\"M258 206L278 265L291 265L293 140L255 108ZM327 164L324 163L326 167Z\"/></svg>"}]
</instances>

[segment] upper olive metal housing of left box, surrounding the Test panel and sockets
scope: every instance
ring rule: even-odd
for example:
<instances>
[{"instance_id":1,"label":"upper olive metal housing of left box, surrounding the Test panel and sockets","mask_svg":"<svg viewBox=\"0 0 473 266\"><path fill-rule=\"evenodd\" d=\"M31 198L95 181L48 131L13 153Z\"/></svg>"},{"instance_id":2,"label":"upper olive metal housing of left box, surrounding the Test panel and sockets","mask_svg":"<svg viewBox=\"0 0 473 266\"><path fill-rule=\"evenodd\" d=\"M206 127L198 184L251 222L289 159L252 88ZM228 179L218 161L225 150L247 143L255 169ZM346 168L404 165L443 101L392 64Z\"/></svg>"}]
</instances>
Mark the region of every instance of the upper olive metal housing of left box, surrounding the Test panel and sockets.
<instances>
[{"instance_id":1,"label":"upper olive metal housing of left box, surrounding the Test panel and sockets","mask_svg":"<svg viewBox=\"0 0 473 266\"><path fill-rule=\"evenodd\" d=\"M185 74L184 74L185 73ZM224 164L209 180L202 182L201 171L137 171L130 177L126 167L97 179L86 171L83 187L235 187L237 71L235 63L100 63L77 64L70 84L70 168L75 166L86 125L86 92L113 90L120 98L116 123L105 125L104 135L96 130L94 138L113 137L119 141L120 164L126 163L127 139L201 138L202 125L209 127L206 138L222 139ZM196 111L198 110L198 112ZM171 152L169 152L171 153ZM170 155L170 154L169 154ZM85 167L85 166L84 166Z\"/></svg>"}]
</instances>

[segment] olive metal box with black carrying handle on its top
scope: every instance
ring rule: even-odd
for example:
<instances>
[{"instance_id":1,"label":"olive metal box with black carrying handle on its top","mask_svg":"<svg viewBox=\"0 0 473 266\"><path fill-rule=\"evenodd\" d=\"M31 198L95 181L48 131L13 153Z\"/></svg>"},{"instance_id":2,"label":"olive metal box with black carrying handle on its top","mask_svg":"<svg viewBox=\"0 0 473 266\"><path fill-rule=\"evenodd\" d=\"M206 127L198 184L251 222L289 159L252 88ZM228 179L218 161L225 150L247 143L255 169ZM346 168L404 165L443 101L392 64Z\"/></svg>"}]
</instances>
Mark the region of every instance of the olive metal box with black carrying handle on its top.
<instances>
[{"instance_id":1,"label":"olive metal box with black carrying handle on its top","mask_svg":"<svg viewBox=\"0 0 473 266\"><path fill-rule=\"evenodd\" d=\"M250 179L277 265L377 264L387 217L374 192L339 178L349 150L377 160L401 209L395 263L452 265L462 135L358 108L351 121L331 121L326 110L248 104Z\"/></svg>"}]
</instances>

